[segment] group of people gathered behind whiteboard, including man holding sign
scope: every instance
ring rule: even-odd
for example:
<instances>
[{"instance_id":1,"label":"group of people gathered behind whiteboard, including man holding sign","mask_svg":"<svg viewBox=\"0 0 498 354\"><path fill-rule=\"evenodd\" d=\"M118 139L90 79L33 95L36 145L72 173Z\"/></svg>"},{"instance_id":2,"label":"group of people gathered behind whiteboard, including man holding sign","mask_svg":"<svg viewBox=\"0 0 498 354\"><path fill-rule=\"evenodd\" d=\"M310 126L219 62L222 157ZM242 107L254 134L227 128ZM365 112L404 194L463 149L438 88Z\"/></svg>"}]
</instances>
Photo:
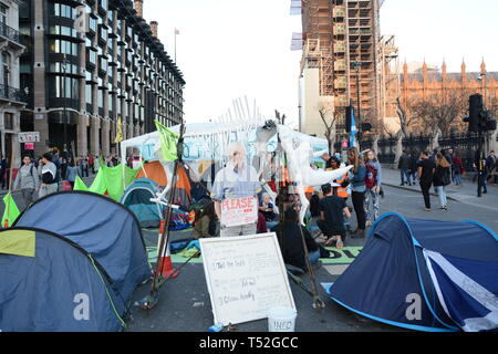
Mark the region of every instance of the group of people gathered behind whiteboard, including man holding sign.
<instances>
[{"instance_id":1,"label":"group of people gathered behind whiteboard, including man holding sign","mask_svg":"<svg viewBox=\"0 0 498 354\"><path fill-rule=\"evenodd\" d=\"M217 174L214 189L205 198L212 198L204 208L196 212L193 237L231 237L274 231L281 241L282 256L287 264L307 269L304 258L304 238L310 264L317 264L320 257L326 257L324 247L342 249L347 238L365 238L366 228L380 218L382 190L382 166L373 150L360 153L357 148L347 152L346 160L341 160L341 154L322 156L326 170L334 170L346 165L353 169L318 190L307 188L311 208L307 212L305 225L300 225L299 215L302 202L292 181L276 180L276 174L269 186L276 194L284 188L287 192L279 194L277 200L261 190L252 166L246 166L246 150L241 144L234 144L230 149L230 160ZM315 167L315 166L314 166ZM283 175L287 176L286 171ZM224 178L221 178L221 176ZM298 187L299 188L299 187ZM258 221L239 227L224 227L220 206L224 199L252 197L258 198ZM347 207L351 199L353 208ZM356 216L356 229L351 225L352 210ZM217 227L216 227L217 225ZM314 237L311 230L318 226ZM215 230L218 229L218 232ZM321 239L320 242L319 238Z\"/></svg>"}]
</instances>

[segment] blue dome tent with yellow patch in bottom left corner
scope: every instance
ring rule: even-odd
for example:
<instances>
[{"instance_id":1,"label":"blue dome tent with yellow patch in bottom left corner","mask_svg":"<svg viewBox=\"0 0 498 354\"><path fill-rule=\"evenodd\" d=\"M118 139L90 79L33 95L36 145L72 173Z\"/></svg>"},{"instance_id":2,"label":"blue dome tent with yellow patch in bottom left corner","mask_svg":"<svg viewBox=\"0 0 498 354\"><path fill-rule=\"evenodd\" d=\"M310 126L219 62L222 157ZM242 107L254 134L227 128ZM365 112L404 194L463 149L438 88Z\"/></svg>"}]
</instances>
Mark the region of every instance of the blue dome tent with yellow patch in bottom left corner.
<instances>
[{"instance_id":1,"label":"blue dome tent with yellow patch in bottom left corner","mask_svg":"<svg viewBox=\"0 0 498 354\"><path fill-rule=\"evenodd\" d=\"M0 231L0 330L114 332L126 306L90 252L50 231Z\"/></svg>"}]
</instances>

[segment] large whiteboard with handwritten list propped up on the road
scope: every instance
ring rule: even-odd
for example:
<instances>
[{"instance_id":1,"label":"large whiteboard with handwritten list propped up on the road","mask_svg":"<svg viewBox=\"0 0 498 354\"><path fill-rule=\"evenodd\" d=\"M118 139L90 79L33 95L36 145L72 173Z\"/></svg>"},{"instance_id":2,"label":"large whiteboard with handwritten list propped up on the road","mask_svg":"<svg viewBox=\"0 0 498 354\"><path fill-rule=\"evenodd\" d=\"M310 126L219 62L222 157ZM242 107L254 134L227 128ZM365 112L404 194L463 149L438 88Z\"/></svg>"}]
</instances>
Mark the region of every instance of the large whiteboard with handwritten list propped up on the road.
<instances>
[{"instance_id":1,"label":"large whiteboard with handwritten list propped up on the road","mask_svg":"<svg viewBox=\"0 0 498 354\"><path fill-rule=\"evenodd\" d=\"M199 241L215 323L266 319L274 306L295 310L276 233Z\"/></svg>"}]
</instances>

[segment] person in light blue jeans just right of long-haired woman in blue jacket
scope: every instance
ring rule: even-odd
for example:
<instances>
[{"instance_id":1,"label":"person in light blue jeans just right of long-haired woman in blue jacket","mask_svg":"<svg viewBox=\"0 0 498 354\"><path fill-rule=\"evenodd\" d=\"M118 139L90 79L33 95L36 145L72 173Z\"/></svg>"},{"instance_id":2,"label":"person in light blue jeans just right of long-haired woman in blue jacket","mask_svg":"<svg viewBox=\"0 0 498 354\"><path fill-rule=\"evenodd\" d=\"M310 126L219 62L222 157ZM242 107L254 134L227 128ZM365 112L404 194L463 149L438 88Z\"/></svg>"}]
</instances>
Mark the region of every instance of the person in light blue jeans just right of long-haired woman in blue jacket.
<instances>
[{"instance_id":1,"label":"person in light blue jeans just right of long-haired woman in blue jacket","mask_svg":"<svg viewBox=\"0 0 498 354\"><path fill-rule=\"evenodd\" d=\"M382 166L377 160L374 150L365 154L366 178L365 178L365 212L366 226L372 226L381 216L381 187Z\"/></svg>"}]
</instances>

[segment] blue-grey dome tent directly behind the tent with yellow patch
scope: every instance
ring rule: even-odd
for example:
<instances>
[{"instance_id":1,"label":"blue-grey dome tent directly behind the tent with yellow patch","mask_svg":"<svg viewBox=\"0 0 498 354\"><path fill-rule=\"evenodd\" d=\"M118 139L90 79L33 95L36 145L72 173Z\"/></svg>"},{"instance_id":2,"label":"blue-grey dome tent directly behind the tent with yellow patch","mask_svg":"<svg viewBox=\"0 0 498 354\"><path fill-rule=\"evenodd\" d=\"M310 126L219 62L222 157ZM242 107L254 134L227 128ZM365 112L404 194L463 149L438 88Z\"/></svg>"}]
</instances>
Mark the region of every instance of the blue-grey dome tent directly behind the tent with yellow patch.
<instances>
[{"instance_id":1,"label":"blue-grey dome tent directly behind the tent with yellow patch","mask_svg":"<svg viewBox=\"0 0 498 354\"><path fill-rule=\"evenodd\" d=\"M60 235L91 253L125 303L135 288L151 277L137 218L110 198L84 191L49 195L27 209L14 227Z\"/></svg>"}]
</instances>

